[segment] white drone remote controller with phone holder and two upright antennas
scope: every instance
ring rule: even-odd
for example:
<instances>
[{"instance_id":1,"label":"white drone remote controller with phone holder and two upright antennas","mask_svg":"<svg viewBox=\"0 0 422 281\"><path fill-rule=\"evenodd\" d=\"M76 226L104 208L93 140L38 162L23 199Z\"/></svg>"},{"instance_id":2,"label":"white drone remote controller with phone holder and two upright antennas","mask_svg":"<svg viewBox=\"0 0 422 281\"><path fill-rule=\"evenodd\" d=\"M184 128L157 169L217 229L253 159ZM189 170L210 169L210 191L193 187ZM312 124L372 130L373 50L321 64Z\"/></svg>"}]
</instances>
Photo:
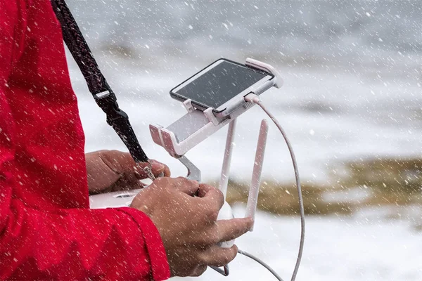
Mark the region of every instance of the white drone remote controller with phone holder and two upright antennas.
<instances>
[{"instance_id":1,"label":"white drone remote controller with phone holder and two upright antennas","mask_svg":"<svg viewBox=\"0 0 422 281\"><path fill-rule=\"evenodd\" d=\"M219 62L219 60L217 60L217 62ZM238 63L236 64L240 65ZM172 96L177 99L183 97L183 95L179 93L184 93L184 85L187 85L185 87L188 88L190 85L189 83L196 81L196 79L199 79L201 75L206 74L209 67L210 66L206 67L204 70L198 72L198 74L186 80L183 84L177 86L175 89L179 89L178 92L173 92L173 89L171 93L174 93L174 96ZM241 114L243 114L243 112L246 112L250 109L250 107L255 105L255 103L245 101L245 96L248 96L248 94L260 95L260 93L267 91L272 86L280 88L283 84L283 80L281 79L280 74L276 72L274 67L271 67L271 65L267 65L266 63L261 63L258 60L248 58L245 65L242 65L242 67L247 68L247 70L245 70L246 72L250 72L252 70L255 72L260 72L264 78L260 79L259 81L255 81L252 86L249 86L246 89L242 89L241 93L236 94L236 96L231 99L233 100L233 103L231 103L231 100L226 101L224 105L218 107L219 110L216 110L212 107L204 108L203 103L196 103L195 100L186 98L183 100L183 104L188 111L186 115L178 119L176 122L170 124L170 126L167 126L166 128L155 124L150 125L153 141L156 144L162 146L162 148L165 148L165 150L167 150L167 152L169 152L172 157L179 159L179 161L184 164L184 166L186 166L188 170L186 178L200 182L200 170L186 158L185 154L188 152L188 150L191 150L191 148L204 141L208 136L212 135L212 133L215 133L226 124L229 124L222 172L219 181L219 190L221 190L224 195L224 205L219 211L217 221L234 218L231 207L225 200L229 181L231 155L234 146L233 144L234 133L236 129L236 119ZM224 71L226 70L224 69ZM215 76L215 74L213 75ZM226 74L224 74L224 76L226 76ZM246 82L248 82L248 79L243 81L243 83ZM184 95L189 97L188 93L184 93ZM190 96L192 96L192 94ZM258 138L255 162L252 171L252 181L250 183L248 202L245 211L245 216L251 217L254 221L255 211L257 208L257 197L260 188L262 163L264 160L264 151L267 143L267 134L268 122L267 120L263 119L260 127L260 136ZM89 198L91 209L128 207L139 191L140 190L127 190L122 192L109 192L106 194L92 195ZM252 230L253 226L250 231ZM231 247L233 244L234 240L231 240L222 242L219 244L219 246ZM224 266L224 271L219 268L214 269L223 275L229 274L229 268L227 266Z\"/></svg>"}]
</instances>

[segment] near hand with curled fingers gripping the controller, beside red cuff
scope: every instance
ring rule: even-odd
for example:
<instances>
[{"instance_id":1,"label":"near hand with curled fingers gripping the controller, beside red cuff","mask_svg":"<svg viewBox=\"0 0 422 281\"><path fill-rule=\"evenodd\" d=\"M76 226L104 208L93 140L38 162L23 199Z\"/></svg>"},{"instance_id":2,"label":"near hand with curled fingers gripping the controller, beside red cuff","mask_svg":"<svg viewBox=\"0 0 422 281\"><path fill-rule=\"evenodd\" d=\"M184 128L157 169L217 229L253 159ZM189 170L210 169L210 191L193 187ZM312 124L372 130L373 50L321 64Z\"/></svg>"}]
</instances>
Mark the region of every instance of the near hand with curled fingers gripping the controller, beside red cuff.
<instances>
[{"instance_id":1,"label":"near hand with curled fingers gripping the controller, beside red cuff","mask_svg":"<svg viewBox=\"0 0 422 281\"><path fill-rule=\"evenodd\" d=\"M237 247L217 243L236 239L251 218L217 221L224 196L217 188L186 178L158 178L141 190L131 207L147 214L160 232L172 276L199 276L207 266L224 266Z\"/></svg>"}]
</instances>

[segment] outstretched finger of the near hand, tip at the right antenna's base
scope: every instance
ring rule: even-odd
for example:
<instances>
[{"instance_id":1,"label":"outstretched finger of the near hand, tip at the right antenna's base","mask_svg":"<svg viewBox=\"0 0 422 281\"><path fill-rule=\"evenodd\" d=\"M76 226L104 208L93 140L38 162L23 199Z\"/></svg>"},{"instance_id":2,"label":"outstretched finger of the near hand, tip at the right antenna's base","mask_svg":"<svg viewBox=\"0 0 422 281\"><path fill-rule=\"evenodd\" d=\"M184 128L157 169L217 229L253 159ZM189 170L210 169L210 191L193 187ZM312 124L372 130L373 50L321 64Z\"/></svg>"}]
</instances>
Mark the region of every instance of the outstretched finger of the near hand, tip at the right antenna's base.
<instances>
[{"instance_id":1,"label":"outstretched finger of the near hand, tip at the right antenna's base","mask_svg":"<svg viewBox=\"0 0 422 281\"><path fill-rule=\"evenodd\" d=\"M210 233L214 233L215 235L209 235L212 240L210 242L217 244L219 242L234 240L250 230L252 224L252 218L232 218L217 221L214 226L211 226Z\"/></svg>"}]
</instances>

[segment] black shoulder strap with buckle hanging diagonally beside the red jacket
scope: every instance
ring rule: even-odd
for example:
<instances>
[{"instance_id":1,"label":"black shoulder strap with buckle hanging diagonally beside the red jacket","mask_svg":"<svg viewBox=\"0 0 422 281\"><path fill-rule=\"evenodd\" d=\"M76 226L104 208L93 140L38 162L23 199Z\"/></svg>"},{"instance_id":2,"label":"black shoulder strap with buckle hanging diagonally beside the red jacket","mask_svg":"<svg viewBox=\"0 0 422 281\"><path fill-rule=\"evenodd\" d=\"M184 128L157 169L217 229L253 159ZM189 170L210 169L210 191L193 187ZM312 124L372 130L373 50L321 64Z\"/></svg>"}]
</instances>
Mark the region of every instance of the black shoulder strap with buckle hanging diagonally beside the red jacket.
<instances>
[{"instance_id":1,"label":"black shoulder strap with buckle hanging diagonally beside the red jacket","mask_svg":"<svg viewBox=\"0 0 422 281\"><path fill-rule=\"evenodd\" d=\"M129 117L117 105L115 93L108 86L106 78L101 74L94 55L92 55L87 41L85 41L65 1L51 0L51 4L62 27L63 39L84 75L94 100L106 113L107 123L122 139L135 162L148 162L148 157L139 145L139 141L129 123Z\"/></svg>"}]
</instances>

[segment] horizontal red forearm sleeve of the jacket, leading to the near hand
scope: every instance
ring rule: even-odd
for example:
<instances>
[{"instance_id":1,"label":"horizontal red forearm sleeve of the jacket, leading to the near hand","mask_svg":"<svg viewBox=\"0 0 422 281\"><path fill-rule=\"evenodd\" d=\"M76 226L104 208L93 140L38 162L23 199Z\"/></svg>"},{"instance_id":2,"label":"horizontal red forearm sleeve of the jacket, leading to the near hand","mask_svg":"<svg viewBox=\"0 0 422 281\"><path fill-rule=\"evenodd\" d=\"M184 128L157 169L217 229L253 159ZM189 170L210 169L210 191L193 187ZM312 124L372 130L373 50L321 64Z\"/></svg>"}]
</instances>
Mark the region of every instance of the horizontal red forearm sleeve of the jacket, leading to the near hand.
<instances>
[{"instance_id":1,"label":"horizontal red forearm sleeve of the jacket, leading to the near hand","mask_svg":"<svg viewBox=\"0 0 422 281\"><path fill-rule=\"evenodd\" d=\"M160 234L136 209L46 213L11 200L9 209L2 210L1 225L1 280L170 277Z\"/></svg>"}]
</instances>

